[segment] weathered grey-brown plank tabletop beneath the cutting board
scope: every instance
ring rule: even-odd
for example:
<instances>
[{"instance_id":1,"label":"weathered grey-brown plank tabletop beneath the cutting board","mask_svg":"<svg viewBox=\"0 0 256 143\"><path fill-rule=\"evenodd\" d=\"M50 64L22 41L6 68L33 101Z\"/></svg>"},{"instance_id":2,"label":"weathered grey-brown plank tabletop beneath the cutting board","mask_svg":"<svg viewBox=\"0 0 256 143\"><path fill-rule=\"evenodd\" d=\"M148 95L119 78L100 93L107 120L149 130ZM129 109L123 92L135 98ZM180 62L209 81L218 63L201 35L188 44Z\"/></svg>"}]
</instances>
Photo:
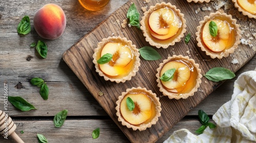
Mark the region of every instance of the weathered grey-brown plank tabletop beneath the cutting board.
<instances>
[{"instance_id":1,"label":"weathered grey-brown plank tabletop beneath the cutting board","mask_svg":"<svg viewBox=\"0 0 256 143\"><path fill-rule=\"evenodd\" d=\"M4 1L0 3L0 83L8 84L9 96L21 96L32 103L37 110L22 112L9 104L9 115L17 125L16 133L25 142L36 142L36 133L44 134L50 142L130 142L121 132L113 120L106 114L94 97L90 94L73 71L62 60L62 54L76 43L85 34L92 31L99 23L127 1L111 0L104 10L89 12L84 10L78 1ZM55 3L66 14L67 27L63 35L56 40L45 40L38 36L33 29L33 15L45 4ZM151 5L151 3L147 4ZM195 9L206 4L193 4ZM212 12L215 10L212 9ZM202 12L208 14L209 11ZM193 16L194 13L190 13ZM25 36L16 32L18 22L24 15L31 18L32 31ZM196 17L201 19L202 17ZM255 19L249 19L254 23ZM194 27L188 26L194 29ZM195 29L194 29L195 30ZM251 34L245 31L245 34ZM244 38L246 36L242 35ZM48 47L48 58L41 59L36 51L29 47L30 43L44 40ZM190 41L195 44L195 38ZM255 40L253 42L255 46ZM247 45L241 48L251 50ZM33 58L27 61L28 56ZM238 55L236 55L238 58ZM231 65L231 63L230 63ZM256 67L255 56L245 64L236 75L244 71L254 70ZM41 77L49 86L49 99L41 99L38 88L32 86L29 80ZM237 78L237 77L236 77ZM197 112L204 110L209 115L214 114L218 108L230 100L233 82L236 78L224 82L216 91L212 92L202 103L178 122L172 129L165 133L157 142L164 141L173 131L186 128L191 132L200 127ZM21 83L23 88L17 89ZM0 109L3 110L3 88L0 88ZM58 111L68 109L67 121L61 128L54 128L53 116ZM99 127L100 137L92 139L92 131ZM20 131L23 130L24 134ZM11 138L0 137L0 142L13 142Z\"/></svg>"}]
</instances>

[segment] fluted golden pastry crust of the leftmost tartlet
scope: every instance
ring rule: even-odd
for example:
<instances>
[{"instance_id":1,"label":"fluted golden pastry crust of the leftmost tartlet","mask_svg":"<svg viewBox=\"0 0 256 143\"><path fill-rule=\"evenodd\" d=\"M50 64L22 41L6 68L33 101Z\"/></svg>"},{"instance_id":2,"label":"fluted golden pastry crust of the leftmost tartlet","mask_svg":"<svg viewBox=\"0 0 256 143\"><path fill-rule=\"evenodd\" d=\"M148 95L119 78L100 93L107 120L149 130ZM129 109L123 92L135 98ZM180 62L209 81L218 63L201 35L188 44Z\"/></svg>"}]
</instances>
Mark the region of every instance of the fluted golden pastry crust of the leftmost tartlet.
<instances>
[{"instance_id":1,"label":"fluted golden pastry crust of the leftmost tartlet","mask_svg":"<svg viewBox=\"0 0 256 143\"><path fill-rule=\"evenodd\" d=\"M120 40L124 43L126 43L126 45L129 45L131 47L131 49L134 52L134 56L135 56L135 63L134 63L134 67L133 69L130 71L129 75L122 77L122 78L112 78L109 77L107 75L105 75L100 69L99 69L99 64L97 63L97 55L100 54L102 47L113 40ZM108 38L104 38L102 39L101 42L98 43L97 48L94 49L94 54L93 54L93 63L95 64L95 68L96 68L96 72L99 73L100 76L104 77L104 80L108 81L110 80L111 82L116 82L116 83L120 83L120 82L125 82L127 80L131 80L132 77L134 77L136 75L136 72L139 70L139 66L140 66L140 53L139 50L136 49L136 46L132 44L131 40L127 40L125 37L121 38L120 36L118 37L108 37Z\"/></svg>"}]
</instances>

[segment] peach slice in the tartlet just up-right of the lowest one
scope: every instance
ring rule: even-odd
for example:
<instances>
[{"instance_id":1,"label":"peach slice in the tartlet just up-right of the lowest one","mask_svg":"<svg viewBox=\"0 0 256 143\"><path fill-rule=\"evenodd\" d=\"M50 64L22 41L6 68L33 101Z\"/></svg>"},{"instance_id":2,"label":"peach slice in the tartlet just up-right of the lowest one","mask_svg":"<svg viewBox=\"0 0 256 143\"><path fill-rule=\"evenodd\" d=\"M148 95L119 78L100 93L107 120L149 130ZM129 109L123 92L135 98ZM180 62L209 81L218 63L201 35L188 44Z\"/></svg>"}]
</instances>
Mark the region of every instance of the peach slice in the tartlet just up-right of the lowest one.
<instances>
[{"instance_id":1,"label":"peach slice in the tartlet just up-right of the lowest one","mask_svg":"<svg viewBox=\"0 0 256 143\"><path fill-rule=\"evenodd\" d=\"M186 85L186 82L190 78L189 67L182 61L170 61L166 63L161 72L160 77L165 73L166 70L175 68L174 78L171 81L161 81L163 86L165 86L171 92L179 92Z\"/></svg>"}]
</instances>

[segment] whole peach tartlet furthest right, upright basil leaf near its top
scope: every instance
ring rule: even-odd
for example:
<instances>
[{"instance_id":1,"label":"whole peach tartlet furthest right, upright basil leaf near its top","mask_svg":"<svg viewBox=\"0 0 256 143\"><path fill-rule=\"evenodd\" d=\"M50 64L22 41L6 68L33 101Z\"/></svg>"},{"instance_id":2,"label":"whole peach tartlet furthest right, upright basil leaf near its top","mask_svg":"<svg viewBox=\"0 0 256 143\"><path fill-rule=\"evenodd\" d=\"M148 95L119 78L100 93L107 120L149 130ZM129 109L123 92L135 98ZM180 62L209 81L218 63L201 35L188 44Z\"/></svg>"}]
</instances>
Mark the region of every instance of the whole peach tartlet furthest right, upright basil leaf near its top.
<instances>
[{"instance_id":1,"label":"whole peach tartlet furthest right, upright basil leaf near its top","mask_svg":"<svg viewBox=\"0 0 256 143\"><path fill-rule=\"evenodd\" d=\"M240 44L241 30L236 22L236 19L226 13L210 13L199 22L200 26L196 32L197 45L213 59L228 57ZM212 35L213 33L215 35Z\"/></svg>"}]
</instances>

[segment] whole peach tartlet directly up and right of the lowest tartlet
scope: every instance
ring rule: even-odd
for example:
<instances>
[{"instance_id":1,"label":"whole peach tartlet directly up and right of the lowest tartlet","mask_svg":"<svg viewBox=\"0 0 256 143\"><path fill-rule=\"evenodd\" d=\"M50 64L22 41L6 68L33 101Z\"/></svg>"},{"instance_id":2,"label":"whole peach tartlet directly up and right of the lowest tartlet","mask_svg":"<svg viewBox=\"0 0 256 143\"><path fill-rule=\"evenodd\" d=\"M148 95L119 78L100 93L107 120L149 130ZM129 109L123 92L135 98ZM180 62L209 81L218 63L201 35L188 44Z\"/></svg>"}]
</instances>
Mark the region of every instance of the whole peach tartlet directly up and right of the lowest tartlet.
<instances>
[{"instance_id":1,"label":"whole peach tartlet directly up and right of the lowest tartlet","mask_svg":"<svg viewBox=\"0 0 256 143\"><path fill-rule=\"evenodd\" d=\"M170 70L174 72L170 74ZM195 60L189 59L188 56L173 55L159 64L156 74L157 86L169 99L186 99L197 91L201 83L200 73L201 69Z\"/></svg>"}]
</instances>

